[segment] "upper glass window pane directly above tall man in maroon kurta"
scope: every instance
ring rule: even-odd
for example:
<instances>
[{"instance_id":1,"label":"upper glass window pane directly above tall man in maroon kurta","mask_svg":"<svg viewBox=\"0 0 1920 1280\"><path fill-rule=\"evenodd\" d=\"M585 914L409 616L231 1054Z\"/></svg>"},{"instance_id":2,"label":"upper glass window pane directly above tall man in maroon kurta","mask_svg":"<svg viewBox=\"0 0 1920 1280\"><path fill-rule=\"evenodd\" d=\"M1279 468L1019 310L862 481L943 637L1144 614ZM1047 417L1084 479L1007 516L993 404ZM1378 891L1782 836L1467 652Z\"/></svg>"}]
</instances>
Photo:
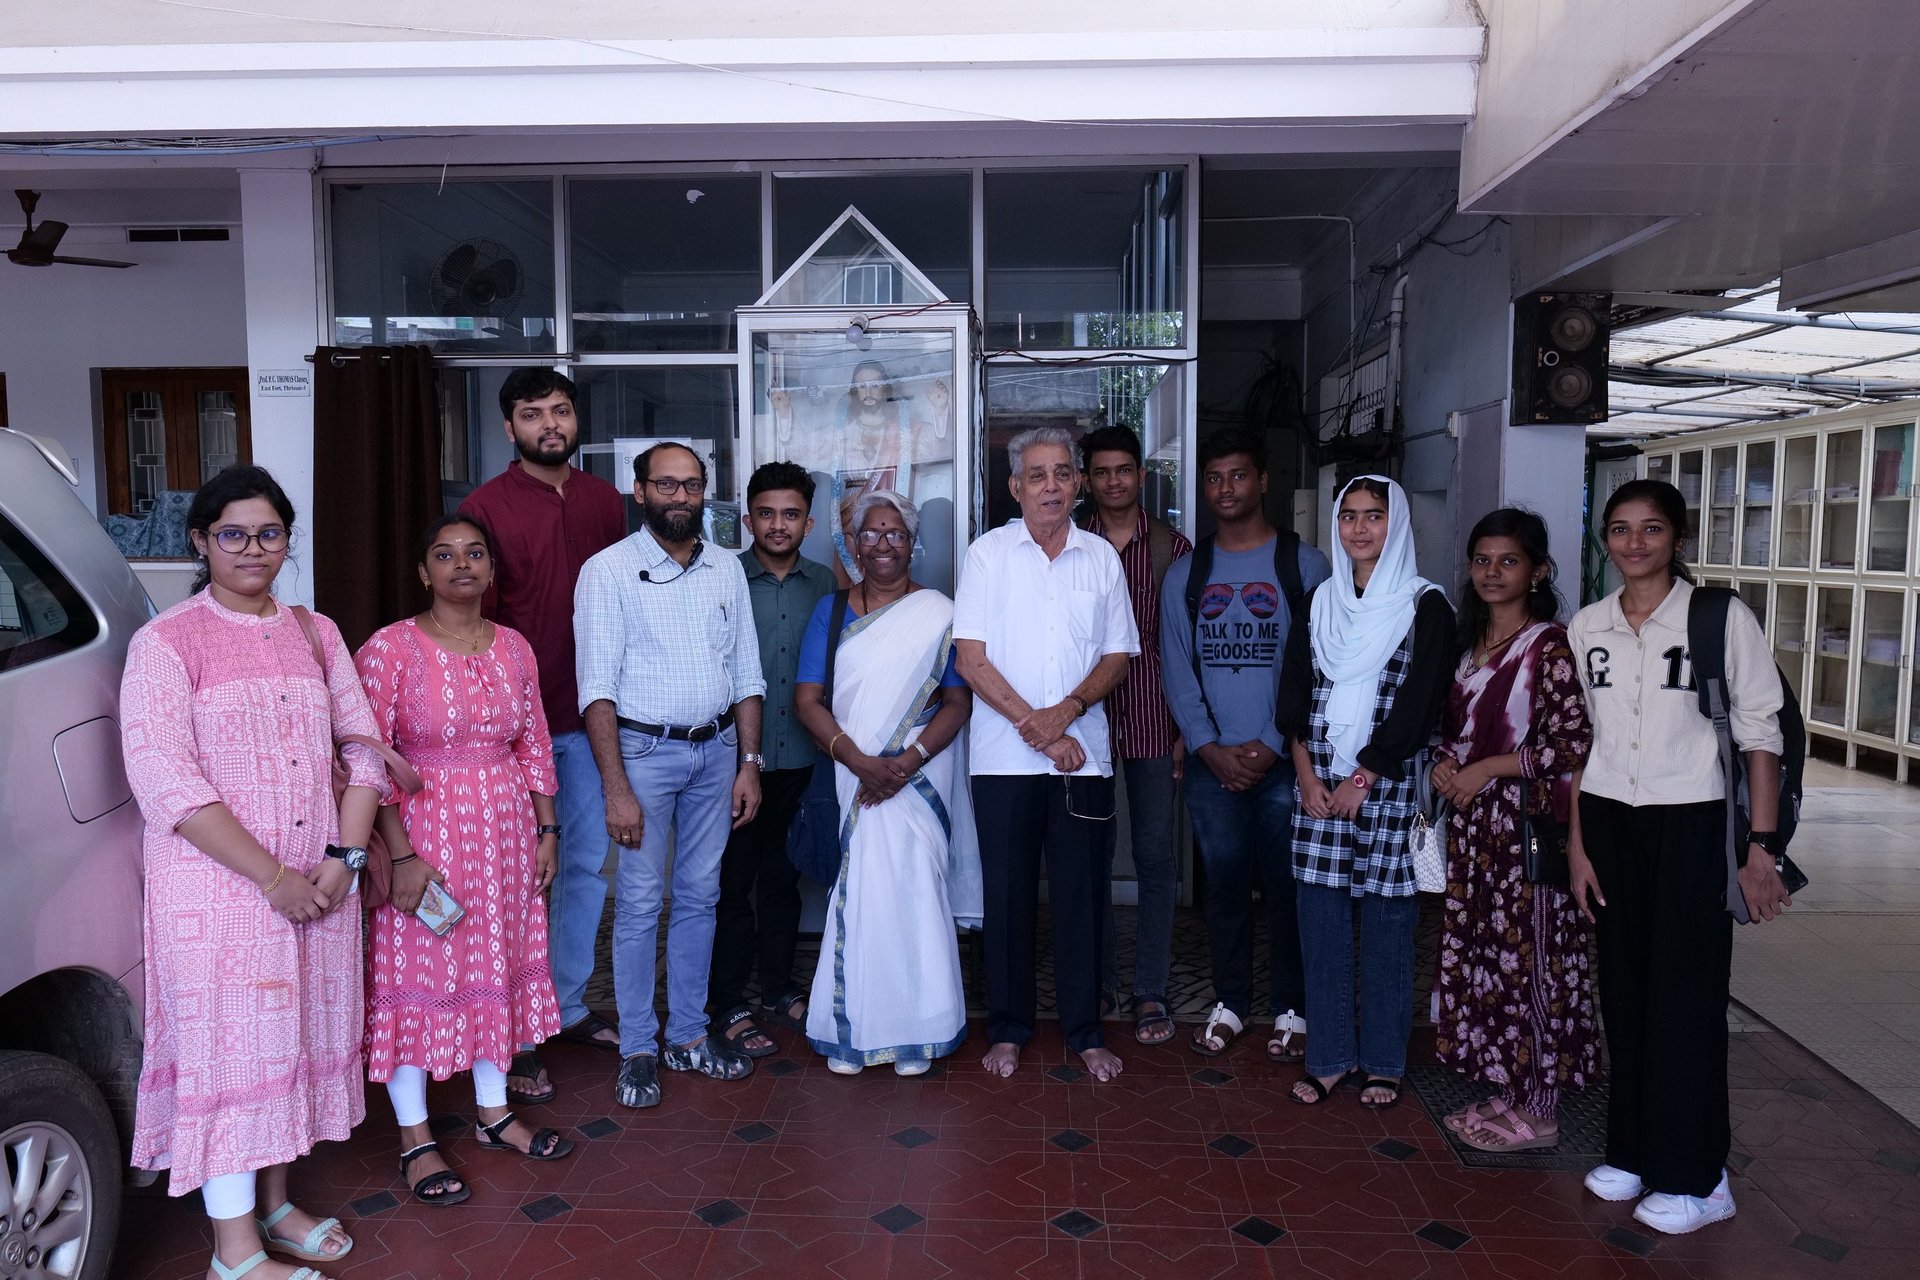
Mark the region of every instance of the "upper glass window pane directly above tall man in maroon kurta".
<instances>
[{"instance_id":1,"label":"upper glass window pane directly above tall man in maroon kurta","mask_svg":"<svg viewBox=\"0 0 1920 1280\"><path fill-rule=\"evenodd\" d=\"M733 349L733 309L760 296L760 178L576 178L566 215L574 349Z\"/></svg>"}]
</instances>

